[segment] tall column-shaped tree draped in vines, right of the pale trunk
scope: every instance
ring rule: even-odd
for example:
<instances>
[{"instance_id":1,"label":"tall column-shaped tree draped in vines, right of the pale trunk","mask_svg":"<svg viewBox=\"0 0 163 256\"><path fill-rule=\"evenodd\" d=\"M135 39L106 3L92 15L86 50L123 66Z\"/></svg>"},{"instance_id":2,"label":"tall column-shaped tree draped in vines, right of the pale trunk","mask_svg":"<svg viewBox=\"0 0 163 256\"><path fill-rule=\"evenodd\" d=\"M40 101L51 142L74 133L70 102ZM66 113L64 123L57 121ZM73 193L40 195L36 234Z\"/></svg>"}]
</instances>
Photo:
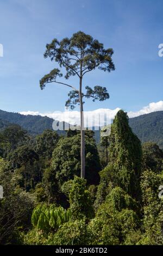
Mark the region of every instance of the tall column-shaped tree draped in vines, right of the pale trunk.
<instances>
[{"instance_id":1,"label":"tall column-shaped tree draped in vines, right of the pale trunk","mask_svg":"<svg viewBox=\"0 0 163 256\"><path fill-rule=\"evenodd\" d=\"M140 198L141 143L131 131L128 116L122 110L116 114L109 141L109 163L114 169L114 180L131 196Z\"/></svg>"}]
</instances>

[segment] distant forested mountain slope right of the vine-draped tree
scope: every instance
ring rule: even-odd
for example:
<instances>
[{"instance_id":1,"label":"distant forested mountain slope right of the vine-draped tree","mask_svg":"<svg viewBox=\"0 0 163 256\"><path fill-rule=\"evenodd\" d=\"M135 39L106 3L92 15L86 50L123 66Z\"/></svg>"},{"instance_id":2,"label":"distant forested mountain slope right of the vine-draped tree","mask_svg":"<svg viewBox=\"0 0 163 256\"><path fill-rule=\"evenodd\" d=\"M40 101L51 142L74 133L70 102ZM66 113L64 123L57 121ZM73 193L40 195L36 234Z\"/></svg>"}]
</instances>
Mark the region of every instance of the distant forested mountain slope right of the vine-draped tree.
<instances>
[{"instance_id":1,"label":"distant forested mountain slope right of the vine-draped tree","mask_svg":"<svg viewBox=\"0 0 163 256\"><path fill-rule=\"evenodd\" d=\"M129 124L141 142L155 142L163 149L163 111L130 118Z\"/></svg>"}]
</instances>

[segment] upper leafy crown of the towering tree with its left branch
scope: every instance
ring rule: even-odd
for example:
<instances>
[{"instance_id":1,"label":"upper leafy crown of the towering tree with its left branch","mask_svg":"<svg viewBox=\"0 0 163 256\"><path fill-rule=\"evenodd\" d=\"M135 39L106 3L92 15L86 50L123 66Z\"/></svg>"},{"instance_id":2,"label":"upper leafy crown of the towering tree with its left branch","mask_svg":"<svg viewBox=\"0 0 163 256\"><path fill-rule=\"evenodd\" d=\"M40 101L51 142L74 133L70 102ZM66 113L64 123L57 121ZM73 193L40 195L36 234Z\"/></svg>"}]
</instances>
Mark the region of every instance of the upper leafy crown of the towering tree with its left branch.
<instances>
[{"instance_id":1,"label":"upper leafy crown of the towering tree with its left branch","mask_svg":"<svg viewBox=\"0 0 163 256\"><path fill-rule=\"evenodd\" d=\"M60 68L64 67L65 78L68 79L70 76L82 78L87 72L96 68L108 72L115 70L111 58L113 53L112 48L104 49L103 44L98 40L79 31L71 38L64 38L61 41L53 39L51 44L46 45L44 57L58 62ZM58 77L62 77L62 73L55 68L41 79L41 89L45 88L47 83L57 82ZM73 86L70 87L73 88Z\"/></svg>"}]
</instances>

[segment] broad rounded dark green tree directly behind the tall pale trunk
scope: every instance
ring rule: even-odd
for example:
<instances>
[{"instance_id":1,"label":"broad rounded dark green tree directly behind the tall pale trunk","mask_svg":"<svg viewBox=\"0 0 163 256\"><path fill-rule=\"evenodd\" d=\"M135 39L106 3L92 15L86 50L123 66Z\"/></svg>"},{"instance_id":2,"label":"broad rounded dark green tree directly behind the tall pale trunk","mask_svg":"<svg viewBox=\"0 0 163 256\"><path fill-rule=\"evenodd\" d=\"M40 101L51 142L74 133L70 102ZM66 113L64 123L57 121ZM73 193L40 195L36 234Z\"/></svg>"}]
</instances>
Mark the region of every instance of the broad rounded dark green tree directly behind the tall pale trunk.
<instances>
[{"instance_id":1,"label":"broad rounded dark green tree directly behind the tall pale trunk","mask_svg":"<svg viewBox=\"0 0 163 256\"><path fill-rule=\"evenodd\" d=\"M97 184L99 180L98 172L101 169L99 156L95 140L89 132L85 136L86 150L86 180L88 184ZM80 176L80 135L61 138L57 147L53 151L51 168L45 171L44 182L49 187L49 194L53 186L59 186L74 178L74 175ZM50 182L50 183L49 183Z\"/></svg>"}]
</instances>

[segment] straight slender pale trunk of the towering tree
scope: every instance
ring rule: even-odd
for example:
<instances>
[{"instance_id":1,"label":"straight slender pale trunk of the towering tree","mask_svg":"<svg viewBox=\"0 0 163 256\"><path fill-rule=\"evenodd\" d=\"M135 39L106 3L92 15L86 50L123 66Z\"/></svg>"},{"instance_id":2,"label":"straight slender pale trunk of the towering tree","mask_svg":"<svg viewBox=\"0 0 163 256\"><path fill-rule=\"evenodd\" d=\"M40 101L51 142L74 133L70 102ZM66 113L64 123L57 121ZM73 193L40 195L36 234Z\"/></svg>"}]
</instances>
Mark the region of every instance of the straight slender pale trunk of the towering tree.
<instances>
[{"instance_id":1,"label":"straight slender pale trunk of the towering tree","mask_svg":"<svg viewBox=\"0 0 163 256\"><path fill-rule=\"evenodd\" d=\"M81 134L81 147L80 147L80 159L81 159L81 178L85 178L85 131L84 131L84 113L83 113L83 99L82 99L82 78L80 77L80 134Z\"/></svg>"}]
</instances>

